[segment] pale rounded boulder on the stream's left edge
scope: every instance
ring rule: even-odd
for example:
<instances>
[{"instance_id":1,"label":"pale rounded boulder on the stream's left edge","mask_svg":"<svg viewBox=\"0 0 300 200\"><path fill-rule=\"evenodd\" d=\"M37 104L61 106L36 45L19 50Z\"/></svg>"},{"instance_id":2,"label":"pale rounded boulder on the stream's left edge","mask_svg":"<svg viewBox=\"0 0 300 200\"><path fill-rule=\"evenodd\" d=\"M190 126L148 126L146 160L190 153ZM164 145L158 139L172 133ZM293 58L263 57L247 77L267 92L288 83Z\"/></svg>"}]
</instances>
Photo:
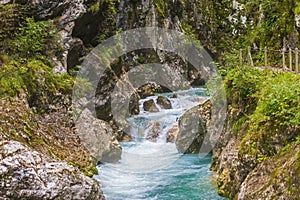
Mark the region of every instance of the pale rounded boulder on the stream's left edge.
<instances>
[{"instance_id":1,"label":"pale rounded boulder on the stream's left edge","mask_svg":"<svg viewBox=\"0 0 300 200\"><path fill-rule=\"evenodd\" d=\"M98 162L117 162L121 158L122 148L111 126L93 117L88 109L77 119L76 131L81 142Z\"/></svg>"}]
</instances>

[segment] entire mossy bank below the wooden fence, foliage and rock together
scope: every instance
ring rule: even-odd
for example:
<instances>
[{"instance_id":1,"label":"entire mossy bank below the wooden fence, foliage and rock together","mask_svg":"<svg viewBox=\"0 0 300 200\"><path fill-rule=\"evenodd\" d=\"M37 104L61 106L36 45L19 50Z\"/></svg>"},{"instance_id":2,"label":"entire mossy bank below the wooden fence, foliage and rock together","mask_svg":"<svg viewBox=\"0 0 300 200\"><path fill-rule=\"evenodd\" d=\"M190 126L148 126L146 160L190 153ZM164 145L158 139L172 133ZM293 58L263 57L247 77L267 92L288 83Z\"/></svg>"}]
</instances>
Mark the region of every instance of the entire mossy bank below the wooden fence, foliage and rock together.
<instances>
[{"instance_id":1,"label":"entire mossy bank below the wooden fence, foliage and rock together","mask_svg":"<svg viewBox=\"0 0 300 200\"><path fill-rule=\"evenodd\" d=\"M213 153L230 199L298 199L300 76L236 67L225 77L227 122Z\"/></svg>"}]
</instances>

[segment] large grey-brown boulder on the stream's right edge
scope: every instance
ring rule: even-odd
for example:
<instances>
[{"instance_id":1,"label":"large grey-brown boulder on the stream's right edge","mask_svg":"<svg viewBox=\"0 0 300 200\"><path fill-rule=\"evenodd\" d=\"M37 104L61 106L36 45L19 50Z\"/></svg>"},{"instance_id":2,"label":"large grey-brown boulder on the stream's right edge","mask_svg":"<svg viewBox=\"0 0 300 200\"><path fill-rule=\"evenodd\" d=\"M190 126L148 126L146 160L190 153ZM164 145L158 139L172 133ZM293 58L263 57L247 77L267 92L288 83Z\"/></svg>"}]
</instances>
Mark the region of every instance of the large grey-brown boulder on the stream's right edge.
<instances>
[{"instance_id":1,"label":"large grey-brown boulder on the stream's right edge","mask_svg":"<svg viewBox=\"0 0 300 200\"><path fill-rule=\"evenodd\" d=\"M211 150L208 126L210 125L211 102L193 107L179 119L179 131L175 140L181 153L208 153Z\"/></svg>"}]
</instances>

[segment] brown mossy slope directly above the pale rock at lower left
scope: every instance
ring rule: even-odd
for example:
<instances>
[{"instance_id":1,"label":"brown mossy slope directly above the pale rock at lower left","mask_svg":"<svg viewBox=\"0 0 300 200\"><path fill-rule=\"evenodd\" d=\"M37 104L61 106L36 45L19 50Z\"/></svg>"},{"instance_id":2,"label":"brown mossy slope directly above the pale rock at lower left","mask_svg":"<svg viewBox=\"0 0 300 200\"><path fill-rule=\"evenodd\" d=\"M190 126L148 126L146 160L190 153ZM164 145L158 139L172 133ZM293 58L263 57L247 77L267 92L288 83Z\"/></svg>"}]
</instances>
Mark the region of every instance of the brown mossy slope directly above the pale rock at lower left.
<instances>
[{"instance_id":1,"label":"brown mossy slope directly above the pale rock at lower left","mask_svg":"<svg viewBox=\"0 0 300 200\"><path fill-rule=\"evenodd\" d=\"M36 114L25 98L1 99L0 108L2 140L19 141L50 158L79 168L88 176L95 173L96 163L78 140L69 112Z\"/></svg>"}]
</instances>

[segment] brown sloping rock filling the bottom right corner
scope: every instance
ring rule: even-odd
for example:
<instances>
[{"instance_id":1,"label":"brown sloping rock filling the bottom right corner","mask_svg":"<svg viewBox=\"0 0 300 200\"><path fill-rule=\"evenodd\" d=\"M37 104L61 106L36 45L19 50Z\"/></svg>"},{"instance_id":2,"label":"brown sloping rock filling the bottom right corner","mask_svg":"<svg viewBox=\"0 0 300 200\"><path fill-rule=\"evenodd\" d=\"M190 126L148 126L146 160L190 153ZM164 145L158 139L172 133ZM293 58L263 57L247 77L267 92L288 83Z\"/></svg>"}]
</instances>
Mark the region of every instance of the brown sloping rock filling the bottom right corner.
<instances>
[{"instance_id":1,"label":"brown sloping rock filling the bottom right corner","mask_svg":"<svg viewBox=\"0 0 300 200\"><path fill-rule=\"evenodd\" d=\"M292 145L290 150L251 171L240 187L238 199L297 199L300 145Z\"/></svg>"}]
</instances>

